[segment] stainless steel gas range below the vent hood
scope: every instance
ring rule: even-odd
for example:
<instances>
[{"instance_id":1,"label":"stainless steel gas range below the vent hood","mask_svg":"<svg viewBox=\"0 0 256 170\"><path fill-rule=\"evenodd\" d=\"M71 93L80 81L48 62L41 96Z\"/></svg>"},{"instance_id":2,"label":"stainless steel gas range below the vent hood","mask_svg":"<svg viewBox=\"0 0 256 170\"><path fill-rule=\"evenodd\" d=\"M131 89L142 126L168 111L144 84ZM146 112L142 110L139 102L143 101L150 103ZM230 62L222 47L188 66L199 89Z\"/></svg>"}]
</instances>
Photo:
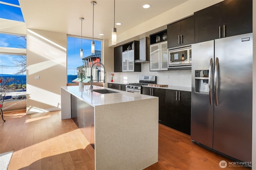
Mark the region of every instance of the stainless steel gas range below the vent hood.
<instances>
[{"instance_id":1,"label":"stainless steel gas range below the vent hood","mask_svg":"<svg viewBox=\"0 0 256 170\"><path fill-rule=\"evenodd\" d=\"M156 84L156 76L140 76L138 83L126 84L126 92L142 94L142 86Z\"/></svg>"}]
</instances>

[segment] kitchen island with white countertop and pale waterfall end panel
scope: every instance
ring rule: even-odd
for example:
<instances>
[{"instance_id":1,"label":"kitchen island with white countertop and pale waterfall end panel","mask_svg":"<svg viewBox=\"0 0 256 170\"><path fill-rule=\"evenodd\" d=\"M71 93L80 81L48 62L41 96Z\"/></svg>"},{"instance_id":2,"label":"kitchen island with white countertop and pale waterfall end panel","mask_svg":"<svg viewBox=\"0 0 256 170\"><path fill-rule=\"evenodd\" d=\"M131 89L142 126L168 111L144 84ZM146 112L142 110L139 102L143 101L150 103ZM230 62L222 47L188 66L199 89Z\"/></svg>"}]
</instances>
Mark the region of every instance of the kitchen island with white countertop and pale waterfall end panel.
<instances>
[{"instance_id":1,"label":"kitchen island with white countertop and pale waterfall end panel","mask_svg":"<svg viewBox=\"0 0 256 170\"><path fill-rule=\"evenodd\" d=\"M140 170L158 162L158 98L89 88L61 87L61 116L72 118L94 147L95 169Z\"/></svg>"}]
</instances>

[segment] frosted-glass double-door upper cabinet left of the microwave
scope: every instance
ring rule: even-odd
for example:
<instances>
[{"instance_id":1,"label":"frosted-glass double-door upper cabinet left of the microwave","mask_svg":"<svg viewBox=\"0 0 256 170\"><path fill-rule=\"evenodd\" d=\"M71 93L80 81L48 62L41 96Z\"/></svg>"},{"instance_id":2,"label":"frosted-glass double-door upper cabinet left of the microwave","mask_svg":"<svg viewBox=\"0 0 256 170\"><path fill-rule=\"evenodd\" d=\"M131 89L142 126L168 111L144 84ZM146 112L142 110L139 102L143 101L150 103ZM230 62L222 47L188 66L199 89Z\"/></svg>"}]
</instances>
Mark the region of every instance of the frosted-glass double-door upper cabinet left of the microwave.
<instances>
[{"instance_id":1,"label":"frosted-glass double-door upper cabinet left of the microwave","mask_svg":"<svg viewBox=\"0 0 256 170\"><path fill-rule=\"evenodd\" d=\"M167 41L150 45L150 71L168 70Z\"/></svg>"}]
</instances>

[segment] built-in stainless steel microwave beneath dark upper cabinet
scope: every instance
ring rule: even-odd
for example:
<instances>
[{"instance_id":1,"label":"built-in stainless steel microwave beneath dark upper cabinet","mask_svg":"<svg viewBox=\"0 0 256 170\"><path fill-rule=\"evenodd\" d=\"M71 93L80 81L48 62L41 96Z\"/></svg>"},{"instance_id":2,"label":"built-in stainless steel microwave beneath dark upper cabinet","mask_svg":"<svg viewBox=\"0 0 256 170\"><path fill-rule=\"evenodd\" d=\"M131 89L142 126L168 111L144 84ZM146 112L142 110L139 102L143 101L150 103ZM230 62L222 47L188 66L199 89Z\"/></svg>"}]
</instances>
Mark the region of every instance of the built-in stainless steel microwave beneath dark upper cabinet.
<instances>
[{"instance_id":1,"label":"built-in stainless steel microwave beneath dark upper cabinet","mask_svg":"<svg viewBox=\"0 0 256 170\"><path fill-rule=\"evenodd\" d=\"M168 49L168 70L191 69L191 45Z\"/></svg>"}]
</instances>

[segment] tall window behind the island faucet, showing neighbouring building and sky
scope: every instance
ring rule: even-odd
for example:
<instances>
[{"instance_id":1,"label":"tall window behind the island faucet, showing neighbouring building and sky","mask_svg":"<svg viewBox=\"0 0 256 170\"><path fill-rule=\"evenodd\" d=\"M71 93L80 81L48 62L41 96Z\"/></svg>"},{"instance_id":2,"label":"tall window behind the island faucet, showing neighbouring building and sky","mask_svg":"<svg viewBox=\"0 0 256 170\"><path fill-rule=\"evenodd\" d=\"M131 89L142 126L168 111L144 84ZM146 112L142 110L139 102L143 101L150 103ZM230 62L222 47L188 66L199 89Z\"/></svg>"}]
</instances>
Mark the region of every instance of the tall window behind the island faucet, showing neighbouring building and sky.
<instances>
[{"instance_id":1,"label":"tall window behind the island faucet, showing neighbouring building and sky","mask_svg":"<svg viewBox=\"0 0 256 170\"><path fill-rule=\"evenodd\" d=\"M95 41L95 53L91 53L91 39L82 39L83 58L80 58L81 37L67 37L67 83L81 82L81 78L77 75L77 69L83 68L86 75L82 78L83 82L90 81L90 68L93 63L101 61L101 43ZM93 77L100 80L100 65L96 65L93 69Z\"/></svg>"}]
</instances>

